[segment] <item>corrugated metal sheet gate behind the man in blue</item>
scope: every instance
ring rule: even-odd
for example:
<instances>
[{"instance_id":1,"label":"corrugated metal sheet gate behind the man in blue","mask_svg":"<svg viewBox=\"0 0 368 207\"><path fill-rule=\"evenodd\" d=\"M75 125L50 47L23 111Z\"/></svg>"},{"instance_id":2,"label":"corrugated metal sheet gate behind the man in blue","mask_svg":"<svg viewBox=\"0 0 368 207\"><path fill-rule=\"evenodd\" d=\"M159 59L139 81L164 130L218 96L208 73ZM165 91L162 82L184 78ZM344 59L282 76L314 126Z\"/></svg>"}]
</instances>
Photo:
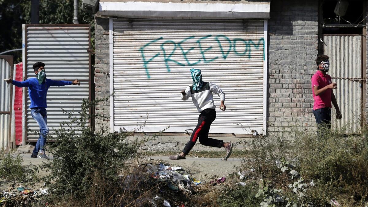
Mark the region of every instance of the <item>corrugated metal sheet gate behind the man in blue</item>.
<instances>
[{"instance_id":1,"label":"corrugated metal sheet gate behind the man in blue","mask_svg":"<svg viewBox=\"0 0 368 207\"><path fill-rule=\"evenodd\" d=\"M28 26L26 28L27 78L35 77L32 66L45 63L46 76L53 80L85 80L81 85L50 87L47 92L47 126L53 128L68 120L61 108L74 114L81 111L82 99L89 98L89 27L88 25ZM38 138L38 124L31 116L27 94L27 139ZM35 133L36 132L36 133Z\"/></svg>"}]
</instances>

